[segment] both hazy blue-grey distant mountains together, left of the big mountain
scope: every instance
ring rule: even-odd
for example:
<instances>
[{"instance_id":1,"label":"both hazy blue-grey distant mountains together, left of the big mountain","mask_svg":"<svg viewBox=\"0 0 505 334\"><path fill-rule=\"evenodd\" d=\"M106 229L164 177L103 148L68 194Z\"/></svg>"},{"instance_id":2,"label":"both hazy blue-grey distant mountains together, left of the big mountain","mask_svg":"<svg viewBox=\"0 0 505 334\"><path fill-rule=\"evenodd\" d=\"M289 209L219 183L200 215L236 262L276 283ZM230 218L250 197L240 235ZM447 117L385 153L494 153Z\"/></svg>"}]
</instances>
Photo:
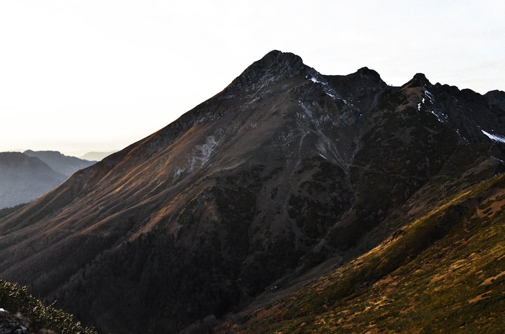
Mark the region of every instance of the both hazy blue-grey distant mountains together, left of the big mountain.
<instances>
[{"instance_id":1,"label":"both hazy blue-grey distant mountains together, left of the big mountain","mask_svg":"<svg viewBox=\"0 0 505 334\"><path fill-rule=\"evenodd\" d=\"M57 151L0 152L0 208L32 201L95 162Z\"/></svg>"}]
</instances>

